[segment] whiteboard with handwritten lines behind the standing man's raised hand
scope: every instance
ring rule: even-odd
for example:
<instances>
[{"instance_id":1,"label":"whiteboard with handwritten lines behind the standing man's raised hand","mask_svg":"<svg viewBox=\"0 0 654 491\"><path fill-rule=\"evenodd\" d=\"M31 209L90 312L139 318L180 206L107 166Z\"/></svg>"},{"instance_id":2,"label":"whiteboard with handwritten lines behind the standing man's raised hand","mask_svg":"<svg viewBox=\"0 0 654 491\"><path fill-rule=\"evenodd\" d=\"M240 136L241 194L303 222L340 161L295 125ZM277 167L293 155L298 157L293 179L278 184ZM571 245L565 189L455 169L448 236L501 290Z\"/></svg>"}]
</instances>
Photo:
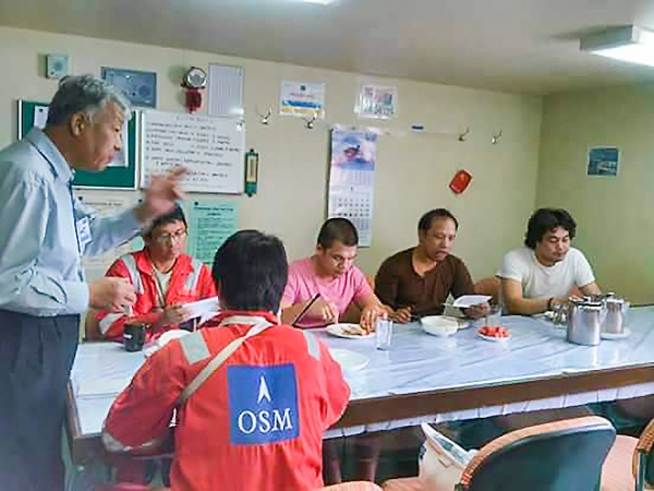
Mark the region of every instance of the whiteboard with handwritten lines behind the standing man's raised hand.
<instances>
[{"instance_id":1,"label":"whiteboard with handwritten lines behind the standing man's raised hand","mask_svg":"<svg viewBox=\"0 0 654 491\"><path fill-rule=\"evenodd\" d=\"M242 193L245 131L233 119L204 115L144 111L142 179L184 166L183 189L202 193Z\"/></svg>"}]
</instances>

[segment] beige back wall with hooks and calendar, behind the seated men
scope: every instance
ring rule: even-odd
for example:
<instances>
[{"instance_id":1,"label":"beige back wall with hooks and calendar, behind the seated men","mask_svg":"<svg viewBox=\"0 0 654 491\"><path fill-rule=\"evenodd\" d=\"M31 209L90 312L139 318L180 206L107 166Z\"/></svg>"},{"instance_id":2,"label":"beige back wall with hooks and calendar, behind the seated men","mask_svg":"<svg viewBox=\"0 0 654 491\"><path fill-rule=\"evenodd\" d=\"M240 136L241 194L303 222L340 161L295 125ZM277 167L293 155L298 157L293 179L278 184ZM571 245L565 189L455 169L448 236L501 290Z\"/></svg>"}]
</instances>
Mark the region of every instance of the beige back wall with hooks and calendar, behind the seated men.
<instances>
[{"instance_id":1,"label":"beige back wall with hooks and calendar, behind the seated men","mask_svg":"<svg viewBox=\"0 0 654 491\"><path fill-rule=\"evenodd\" d=\"M375 124L353 113L360 83L375 81L362 75L0 27L2 146L16 136L16 99L47 101L57 87L44 77L46 53L70 56L74 74L99 74L102 65L155 71L158 108L169 111L183 110L179 82L190 65L244 67L247 147L256 148L262 159L259 193L234 199L240 205L240 226L278 233L291 259L312 252L324 218L328 131L325 125L307 131L301 120L281 117L263 127L255 108L277 108L283 79L324 82L329 123ZM414 243L424 211L447 206L462 224L455 252L465 259L473 275L493 274L502 253L520 242L535 203L541 98L404 80L376 82L399 86L400 117L388 128L408 130L411 124L423 124L453 133L470 127L472 133L465 143L425 134L380 139L374 243L361 251L360 265L374 274L384 258ZM504 137L492 145L491 134L499 129ZM447 184L459 168L468 169L474 179L463 195L455 196Z\"/></svg>"}]
</instances>

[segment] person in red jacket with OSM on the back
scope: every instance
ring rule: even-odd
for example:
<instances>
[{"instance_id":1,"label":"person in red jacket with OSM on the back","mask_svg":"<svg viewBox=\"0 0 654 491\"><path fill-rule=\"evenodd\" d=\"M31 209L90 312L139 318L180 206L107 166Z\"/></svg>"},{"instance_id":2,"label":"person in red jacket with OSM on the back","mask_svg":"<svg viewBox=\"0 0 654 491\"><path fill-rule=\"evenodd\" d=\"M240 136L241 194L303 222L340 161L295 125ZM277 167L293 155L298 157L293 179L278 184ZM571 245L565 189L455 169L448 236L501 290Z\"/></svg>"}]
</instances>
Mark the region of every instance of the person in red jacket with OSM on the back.
<instances>
[{"instance_id":1,"label":"person in red jacket with OSM on the back","mask_svg":"<svg viewBox=\"0 0 654 491\"><path fill-rule=\"evenodd\" d=\"M348 404L340 367L313 333L280 324L281 241L256 230L218 250L217 326L155 352L114 402L109 450L165 438L177 409L172 490L308 491L323 486L323 432Z\"/></svg>"}]
</instances>

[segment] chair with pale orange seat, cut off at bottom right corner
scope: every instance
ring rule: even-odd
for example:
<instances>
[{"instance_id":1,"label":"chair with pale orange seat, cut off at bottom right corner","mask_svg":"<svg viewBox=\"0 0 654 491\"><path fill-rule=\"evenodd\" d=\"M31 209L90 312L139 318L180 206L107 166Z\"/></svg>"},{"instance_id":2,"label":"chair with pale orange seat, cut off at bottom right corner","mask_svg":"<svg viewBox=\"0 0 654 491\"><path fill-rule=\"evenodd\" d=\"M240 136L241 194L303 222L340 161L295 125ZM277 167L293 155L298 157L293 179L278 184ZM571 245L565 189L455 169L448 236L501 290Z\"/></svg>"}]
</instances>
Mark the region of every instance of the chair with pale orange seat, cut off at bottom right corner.
<instances>
[{"instance_id":1,"label":"chair with pale orange seat, cut off at bottom right corner","mask_svg":"<svg viewBox=\"0 0 654 491\"><path fill-rule=\"evenodd\" d=\"M654 487L654 420L640 439L618 435L602 469L602 491L643 491Z\"/></svg>"}]
</instances>

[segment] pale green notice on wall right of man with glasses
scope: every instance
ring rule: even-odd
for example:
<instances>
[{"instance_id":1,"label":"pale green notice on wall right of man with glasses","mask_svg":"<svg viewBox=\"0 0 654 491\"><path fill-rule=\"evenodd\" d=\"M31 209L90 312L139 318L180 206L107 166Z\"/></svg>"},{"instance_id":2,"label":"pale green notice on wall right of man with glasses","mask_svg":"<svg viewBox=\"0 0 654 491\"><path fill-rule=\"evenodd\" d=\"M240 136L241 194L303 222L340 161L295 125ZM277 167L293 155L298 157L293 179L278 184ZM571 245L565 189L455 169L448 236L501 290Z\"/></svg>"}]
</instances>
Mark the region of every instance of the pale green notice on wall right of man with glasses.
<instances>
[{"instance_id":1,"label":"pale green notice on wall right of man with glasses","mask_svg":"<svg viewBox=\"0 0 654 491\"><path fill-rule=\"evenodd\" d=\"M187 252L211 265L218 248L237 231L237 204L228 201L189 200L184 207L189 221Z\"/></svg>"}]
</instances>

